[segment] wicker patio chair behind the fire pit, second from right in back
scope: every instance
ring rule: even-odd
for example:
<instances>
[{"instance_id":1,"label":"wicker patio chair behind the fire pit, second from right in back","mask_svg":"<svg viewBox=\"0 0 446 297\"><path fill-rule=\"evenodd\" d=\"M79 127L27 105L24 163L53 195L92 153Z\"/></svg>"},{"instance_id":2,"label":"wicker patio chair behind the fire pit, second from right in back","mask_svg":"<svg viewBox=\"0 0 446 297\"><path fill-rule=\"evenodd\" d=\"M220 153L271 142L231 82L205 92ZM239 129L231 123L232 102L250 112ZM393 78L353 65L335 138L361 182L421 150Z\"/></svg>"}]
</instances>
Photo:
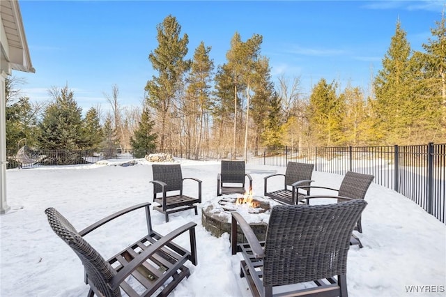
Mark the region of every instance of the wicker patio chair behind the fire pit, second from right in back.
<instances>
[{"instance_id":1,"label":"wicker patio chair behind the fire pit, second from right in back","mask_svg":"<svg viewBox=\"0 0 446 297\"><path fill-rule=\"evenodd\" d=\"M288 162L285 174L271 174L264 178L264 196L268 196L282 204L297 204L300 201L300 197L309 196L310 189L307 186L312 183L313 168L314 164ZM268 192L268 180L273 176L284 177L284 188ZM300 187L296 188L298 186Z\"/></svg>"}]
</instances>

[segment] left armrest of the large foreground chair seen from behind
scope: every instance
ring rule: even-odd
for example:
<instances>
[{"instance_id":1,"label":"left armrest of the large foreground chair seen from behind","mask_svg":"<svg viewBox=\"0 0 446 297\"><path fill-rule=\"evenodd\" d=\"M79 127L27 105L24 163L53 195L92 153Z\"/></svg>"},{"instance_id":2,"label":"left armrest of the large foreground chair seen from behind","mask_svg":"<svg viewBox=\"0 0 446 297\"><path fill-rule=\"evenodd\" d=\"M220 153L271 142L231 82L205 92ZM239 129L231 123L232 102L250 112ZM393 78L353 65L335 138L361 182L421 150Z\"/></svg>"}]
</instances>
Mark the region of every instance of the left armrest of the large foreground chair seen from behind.
<instances>
[{"instance_id":1,"label":"left armrest of the large foreground chair seen from behind","mask_svg":"<svg viewBox=\"0 0 446 297\"><path fill-rule=\"evenodd\" d=\"M231 214L232 214L232 221L231 221L232 254L237 253L237 224L238 224L242 229L243 234L245 234L245 237L249 245L252 248L252 253L254 254L254 257L256 257L256 259L265 257L265 252L263 251L263 248L260 245L259 240L256 237L256 234L254 234L254 231L252 231L251 226L249 226L249 224L246 222L243 216L240 215L240 213L233 211Z\"/></svg>"}]
</instances>

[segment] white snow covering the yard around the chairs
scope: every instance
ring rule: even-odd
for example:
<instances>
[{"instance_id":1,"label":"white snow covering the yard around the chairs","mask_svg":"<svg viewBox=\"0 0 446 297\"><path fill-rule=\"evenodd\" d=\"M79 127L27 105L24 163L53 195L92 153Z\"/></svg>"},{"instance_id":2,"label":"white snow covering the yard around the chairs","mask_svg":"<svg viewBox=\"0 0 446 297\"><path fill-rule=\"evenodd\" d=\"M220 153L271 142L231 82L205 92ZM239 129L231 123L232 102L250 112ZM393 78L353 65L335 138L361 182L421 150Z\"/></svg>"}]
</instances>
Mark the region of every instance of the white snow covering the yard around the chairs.
<instances>
[{"instance_id":1,"label":"white snow covering the yard around the chairs","mask_svg":"<svg viewBox=\"0 0 446 297\"><path fill-rule=\"evenodd\" d=\"M102 160L100 164L68 167L10 169L7 172L8 205L0 216L0 296L86 296L82 263L68 245L50 229L44 213L54 207L81 230L128 206L151 201L151 163L119 166L128 160ZM203 181L203 203L215 199L217 161L177 160L183 177ZM263 177L284 173L284 167L247 165L254 195L263 194ZM343 176L314 172L314 185L338 188ZM282 182L280 182L282 184ZM268 183L269 187L269 183ZM194 193L196 183L185 183ZM314 190L312 195L332 192ZM397 192L371 184L362 213L364 248L348 253L347 284L350 296L446 296L446 226ZM231 256L229 236L210 235L199 215L183 211L164 215L151 211L153 229L162 234L186 222L197 222L199 265L190 267L171 296L250 296L239 277L240 256ZM146 231L144 211L109 223L86 236L106 259L141 237ZM179 244L188 238L178 238Z\"/></svg>"}]
</instances>

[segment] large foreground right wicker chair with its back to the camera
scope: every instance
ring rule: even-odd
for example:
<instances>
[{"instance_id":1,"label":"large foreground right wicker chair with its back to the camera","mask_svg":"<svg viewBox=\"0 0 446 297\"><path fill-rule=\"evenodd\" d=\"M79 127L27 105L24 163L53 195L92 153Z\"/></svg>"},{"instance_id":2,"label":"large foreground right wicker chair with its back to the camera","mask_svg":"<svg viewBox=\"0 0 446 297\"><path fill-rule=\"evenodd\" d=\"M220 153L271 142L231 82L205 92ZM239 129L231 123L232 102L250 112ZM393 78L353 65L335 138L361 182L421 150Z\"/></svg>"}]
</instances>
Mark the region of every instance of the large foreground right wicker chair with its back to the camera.
<instances>
[{"instance_id":1,"label":"large foreground right wicker chair with its back to the camera","mask_svg":"<svg viewBox=\"0 0 446 297\"><path fill-rule=\"evenodd\" d=\"M231 252L243 254L240 277L247 278L252 295L347 296L349 240L366 205L364 200L348 199L274 206L261 242L242 215L233 212ZM237 243L237 227L247 243Z\"/></svg>"}]
</instances>

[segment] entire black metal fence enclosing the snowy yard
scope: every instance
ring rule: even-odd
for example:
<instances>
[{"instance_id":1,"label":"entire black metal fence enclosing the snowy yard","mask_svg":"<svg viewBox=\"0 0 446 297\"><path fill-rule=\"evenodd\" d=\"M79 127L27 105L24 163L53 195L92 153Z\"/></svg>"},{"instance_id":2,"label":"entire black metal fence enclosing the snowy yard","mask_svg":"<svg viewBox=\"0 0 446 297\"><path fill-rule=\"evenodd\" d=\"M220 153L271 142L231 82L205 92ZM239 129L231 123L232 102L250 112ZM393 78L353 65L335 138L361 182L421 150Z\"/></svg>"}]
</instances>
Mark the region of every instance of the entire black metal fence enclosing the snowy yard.
<instances>
[{"instance_id":1,"label":"entire black metal fence enclosing the snowy yard","mask_svg":"<svg viewBox=\"0 0 446 297\"><path fill-rule=\"evenodd\" d=\"M224 150L165 151L192 160L243 159ZM130 159L145 152L132 150L27 151L8 158L8 168L93 163ZM373 174L374 183L415 201L441 222L446 222L446 144L416 146L360 146L318 148L262 148L247 155L248 164L286 167L289 161L314 164L318 172L344 175L347 171Z\"/></svg>"}]
</instances>

